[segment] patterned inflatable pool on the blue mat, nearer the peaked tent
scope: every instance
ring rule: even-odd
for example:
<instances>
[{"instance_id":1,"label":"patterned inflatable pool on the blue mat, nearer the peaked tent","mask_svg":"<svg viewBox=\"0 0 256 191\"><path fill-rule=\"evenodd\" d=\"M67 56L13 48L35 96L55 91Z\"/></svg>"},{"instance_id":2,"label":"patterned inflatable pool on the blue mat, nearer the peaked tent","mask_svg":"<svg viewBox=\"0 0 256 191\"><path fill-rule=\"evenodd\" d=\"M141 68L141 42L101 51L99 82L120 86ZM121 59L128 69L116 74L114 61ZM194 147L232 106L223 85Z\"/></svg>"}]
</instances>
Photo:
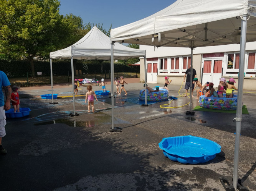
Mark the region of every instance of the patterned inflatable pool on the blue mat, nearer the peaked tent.
<instances>
[{"instance_id":1,"label":"patterned inflatable pool on the blue mat, nearer the peaked tent","mask_svg":"<svg viewBox=\"0 0 256 191\"><path fill-rule=\"evenodd\" d=\"M155 90L155 88L153 88ZM145 89L140 90L139 98L140 100L145 100L145 92L142 93ZM169 98L169 91L164 88L160 88L159 92L151 92L147 90L147 101L165 101Z\"/></svg>"}]
</instances>

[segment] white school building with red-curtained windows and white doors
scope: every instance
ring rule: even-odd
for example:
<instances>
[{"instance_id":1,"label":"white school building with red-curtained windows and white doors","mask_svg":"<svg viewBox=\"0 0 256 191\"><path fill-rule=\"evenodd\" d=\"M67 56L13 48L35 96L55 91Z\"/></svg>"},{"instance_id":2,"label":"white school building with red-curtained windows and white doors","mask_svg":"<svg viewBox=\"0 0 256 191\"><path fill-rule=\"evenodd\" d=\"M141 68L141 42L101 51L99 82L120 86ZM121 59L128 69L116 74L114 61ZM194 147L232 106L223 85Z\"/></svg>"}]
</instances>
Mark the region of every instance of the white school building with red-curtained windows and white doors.
<instances>
[{"instance_id":1,"label":"white school building with red-curtained windows and white doors","mask_svg":"<svg viewBox=\"0 0 256 191\"><path fill-rule=\"evenodd\" d=\"M140 45L146 50L147 82L164 84L169 76L172 84L181 85L190 64L191 49ZM238 82L239 44L197 47L193 50L193 68L201 83L213 82L218 86L221 77ZM244 89L256 90L256 42L246 43L244 62ZM144 59L140 60L140 81L144 80ZM235 84L238 87L238 83Z\"/></svg>"}]
</instances>

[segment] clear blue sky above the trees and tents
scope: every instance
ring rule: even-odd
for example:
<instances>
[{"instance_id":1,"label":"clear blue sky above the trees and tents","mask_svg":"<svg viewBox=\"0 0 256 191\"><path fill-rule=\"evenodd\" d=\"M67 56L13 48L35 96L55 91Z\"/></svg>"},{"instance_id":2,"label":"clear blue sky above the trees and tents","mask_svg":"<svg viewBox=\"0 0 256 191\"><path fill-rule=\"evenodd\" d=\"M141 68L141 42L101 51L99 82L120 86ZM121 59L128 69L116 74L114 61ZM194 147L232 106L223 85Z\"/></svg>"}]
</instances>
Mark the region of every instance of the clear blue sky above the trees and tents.
<instances>
[{"instance_id":1,"label":"clear blue sky above the trees and tents","mask_svg":"<svg viewBox=\"0 0 256 191\"><path fill-rule=\"evenodd\" d=\"M83 23L103 24L108 31L166 8L176 0L59 0L59 13L80 16Z\"/></svg>"}]
</instances>

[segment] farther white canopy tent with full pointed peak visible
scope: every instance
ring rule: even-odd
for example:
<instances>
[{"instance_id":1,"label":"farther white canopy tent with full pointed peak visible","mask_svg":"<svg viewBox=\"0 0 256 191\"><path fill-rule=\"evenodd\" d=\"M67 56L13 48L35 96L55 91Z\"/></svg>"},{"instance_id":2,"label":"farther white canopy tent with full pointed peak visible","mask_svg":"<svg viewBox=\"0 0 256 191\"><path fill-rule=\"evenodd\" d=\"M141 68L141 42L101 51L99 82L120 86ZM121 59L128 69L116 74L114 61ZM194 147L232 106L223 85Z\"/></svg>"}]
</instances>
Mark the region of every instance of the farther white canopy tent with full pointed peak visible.
<instances>
[{"instance_id":1,"label":"farther white canopy tent with full pointed peak visible","mask_svg":"<svg viewBox=\"0 0 256 191\"><path fill-rule=\"evenodd\" d=\"M71 59L72 68L72 82L74 82L74 67L73 59L78 60L111 60L111 56L116 60L125 60L127 58L138 58L145 57L145 50L132 49L122 44L114 44L114 49L111 53L111 41L101 30L94 26L82 39L75 44L56 52L50 53L50 64L51 64L51 91L52 91L52 102L53 102L53 75L52 75L52 59L64 58ZM111 66L112 68L112 66ZM113 65L114 68L114 65ZM114 69L111 70L111 79L114 78ZM112 110L114 108L114 95L113 95L113 84L111 80L111 96L112 96ZM73 92L73 107L75 112L75 96L74 96L74 83L72 83Z\"/></svg>"}]
</instances>

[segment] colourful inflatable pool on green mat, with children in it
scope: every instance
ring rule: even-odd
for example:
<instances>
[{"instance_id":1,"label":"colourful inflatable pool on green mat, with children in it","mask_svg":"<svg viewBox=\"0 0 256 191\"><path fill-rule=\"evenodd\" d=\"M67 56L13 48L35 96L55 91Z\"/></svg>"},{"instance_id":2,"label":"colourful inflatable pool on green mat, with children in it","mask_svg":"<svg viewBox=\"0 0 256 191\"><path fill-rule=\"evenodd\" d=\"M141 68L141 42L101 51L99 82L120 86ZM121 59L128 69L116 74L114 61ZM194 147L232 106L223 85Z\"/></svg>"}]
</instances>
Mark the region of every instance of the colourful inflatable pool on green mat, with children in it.
<instances>
[{"instance_id":1,"label":"colourful inflatable pool on green mat, with children in it","mask_svg":"<svg viewBox=\"0 0 256 191\"><path fill-rule=\"evenodd\" d=\"M233 95L232 98L226 98L226 94L223 94L223 97L205 97L205 95L201 95L199 106L208 109L236 110L237 95Z\"/></svg>"}]
</instances>

